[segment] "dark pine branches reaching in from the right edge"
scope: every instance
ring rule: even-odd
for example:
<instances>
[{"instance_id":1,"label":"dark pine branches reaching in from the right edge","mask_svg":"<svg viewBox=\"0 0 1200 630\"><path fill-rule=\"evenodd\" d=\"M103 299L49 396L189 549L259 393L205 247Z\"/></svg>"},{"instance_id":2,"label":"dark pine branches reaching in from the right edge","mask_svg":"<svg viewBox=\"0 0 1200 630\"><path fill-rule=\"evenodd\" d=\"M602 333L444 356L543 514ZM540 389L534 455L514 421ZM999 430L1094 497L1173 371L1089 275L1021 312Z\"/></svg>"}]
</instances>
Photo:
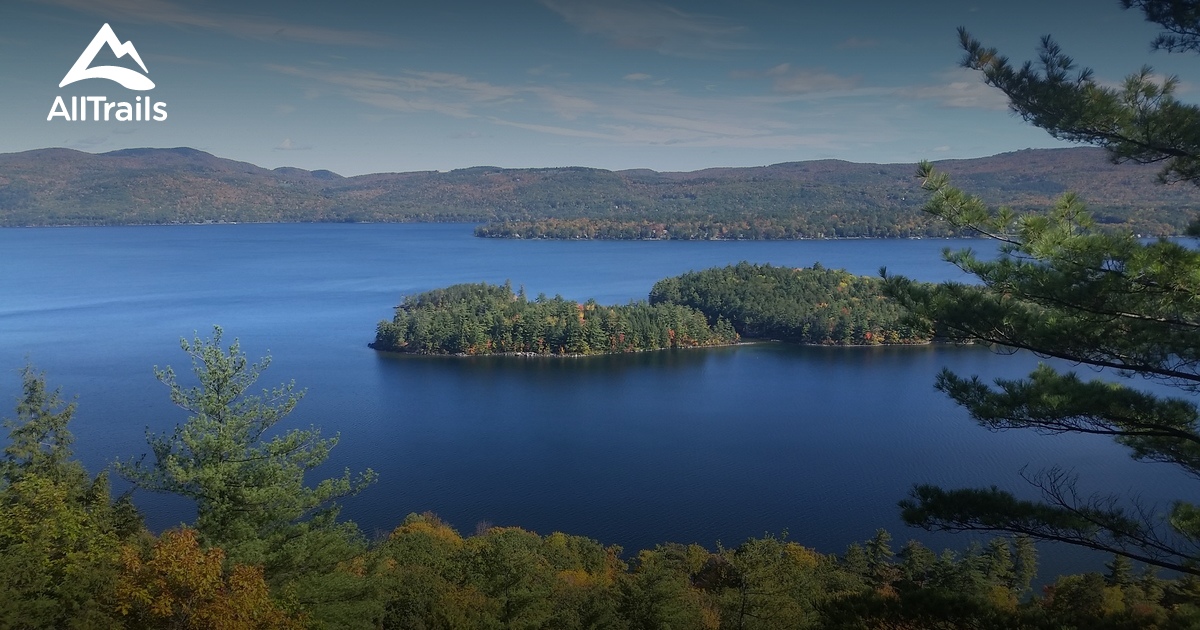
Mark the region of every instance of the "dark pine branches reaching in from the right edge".
<instances>
[{"instance_id":1,"label":"dark pine branches reaching in from the right edge","mask_svg":"<svg viewBox=\"0 0 1200 630\"><path fill-rule=\"evenodd\" d=\"M1166 30L1156 48L1200 53L1200 2L1123 5L1142 10ZM1159 80L1146 67L1112 89L1098 84L1091 71L1076 70L1049 37L1039 62L1020 67L965 30L960 37L962 65L980 71L1025 120L1056 138L1104 146L1115 162L1162 163L1164 182L1200 184L1200 108L1175 98L1176 78ZM1144 377L1175 395L1085 382L1045 365L1025 379L997 379L994 386L946 371L936 386L988 428L1111 436L1135 460L1200 476L1200 252L1099 230L1074 194L1064 196L1049 216L1015 216L954 188L928 163L918 175L931 192L926 211L1001 245L995 260L971 251L946 253L979 278L977 286L920 286L888 277L889 294L918 319L936 323L952 340ZM1022 476L1040 500L996 487L920 485L901 502L904 518L926 529L1026 534L1200 575L1196 504L1180 499L1163 509L1136 496L1087 493L1074 473L1058 467Z\"/></svg>"}]
</instances>

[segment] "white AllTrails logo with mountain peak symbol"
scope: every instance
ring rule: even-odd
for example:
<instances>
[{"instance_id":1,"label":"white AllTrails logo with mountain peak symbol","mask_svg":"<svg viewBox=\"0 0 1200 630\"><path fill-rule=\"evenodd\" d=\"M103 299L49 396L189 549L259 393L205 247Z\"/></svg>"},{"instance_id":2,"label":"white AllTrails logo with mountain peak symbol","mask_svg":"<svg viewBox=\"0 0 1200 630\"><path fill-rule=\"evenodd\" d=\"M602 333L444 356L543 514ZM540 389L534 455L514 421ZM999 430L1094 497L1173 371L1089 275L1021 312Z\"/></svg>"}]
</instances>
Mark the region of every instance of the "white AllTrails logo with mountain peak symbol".
<instances>
[{"instance_id":1,"label":"white AllTrails logo with mountain peak symbol","mask_svg":"<svg viewBox=\"0 0 1200 630\"><path fill-rule=\"evenodd\" d=\"M145 74L120 66L92 66L91 62L95 61L96 55L106 46L118 59L130 55L133 61L137 61ZM91 38L88 48L84 48L83 54L71 66L67 74L62 77L59 88L65 88L85 79L108 79L130 90L145 91L154 89L154 82L146 77L149 73L150 71L146 70L145 62L142 61L142 55L133 47L133 42L121 43L116 38L116 34L113 32L113 28L104 24L100 28L96 36ZM89 108L88 106L91 107ZM89 109L91 114L90 119L88 115ZM109 101L107 96L72 96L71 107L67 107L65 98L55 96L54 104L50 106L50 113L46 116L46 120L54 120L59 116L62 120L72 122L84 120L116 120L120 122L145 120L157 122L167 120L167 103L155 103L150 98L150 95L145 97L138 96L132 103Z\"/></svg>"}]
</instances>

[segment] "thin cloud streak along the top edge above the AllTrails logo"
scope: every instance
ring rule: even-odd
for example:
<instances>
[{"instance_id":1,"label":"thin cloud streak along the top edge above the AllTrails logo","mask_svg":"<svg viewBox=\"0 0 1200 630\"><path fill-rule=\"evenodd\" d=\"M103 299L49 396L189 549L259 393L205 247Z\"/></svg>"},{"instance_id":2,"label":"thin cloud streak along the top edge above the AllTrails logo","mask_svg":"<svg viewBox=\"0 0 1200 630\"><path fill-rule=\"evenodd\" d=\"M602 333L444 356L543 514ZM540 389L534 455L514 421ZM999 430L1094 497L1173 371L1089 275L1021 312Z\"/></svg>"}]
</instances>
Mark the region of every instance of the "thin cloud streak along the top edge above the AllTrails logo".
<instances>
[{"instance_id":1,"label":"thin cloud streak along the top edge above the AllTrails logo","mask_svg":"<svg viewBox=\"0 0 1200 630\"><path fill-rule=\"evenodd\" d=\"M29 1L29 0L26 0ZM224 32L247 40L293 41L329 46L386 48L398 42L390 36L313 26L263 16L193 10L169 0L38 0L104 19L140 24L167 24Z\"/></svg>"}]
</instances>

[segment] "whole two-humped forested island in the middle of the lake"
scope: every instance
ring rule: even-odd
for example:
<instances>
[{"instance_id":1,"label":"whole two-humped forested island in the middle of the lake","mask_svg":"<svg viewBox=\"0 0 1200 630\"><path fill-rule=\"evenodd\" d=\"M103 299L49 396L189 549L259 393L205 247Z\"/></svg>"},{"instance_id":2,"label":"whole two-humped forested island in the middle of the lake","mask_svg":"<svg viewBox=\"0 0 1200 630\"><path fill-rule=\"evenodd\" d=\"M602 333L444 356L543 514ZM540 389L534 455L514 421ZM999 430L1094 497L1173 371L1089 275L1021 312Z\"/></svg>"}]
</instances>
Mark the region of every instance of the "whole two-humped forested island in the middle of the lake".
<instances>
[{"instance_id":1,"label":"whole two-humped forested island in the middle of the lake","mask_svg":"<svg viewBox=\"0 0 1200 630\"><path fill-rule=\"evenodd\" d=\"M814 265L740 263L662 280L648 302L530 300L510 283L455 284L406 296L371 347L416 354L589 355L737 343L923 343L878 278Z\"/></svg>"}]
</instances>

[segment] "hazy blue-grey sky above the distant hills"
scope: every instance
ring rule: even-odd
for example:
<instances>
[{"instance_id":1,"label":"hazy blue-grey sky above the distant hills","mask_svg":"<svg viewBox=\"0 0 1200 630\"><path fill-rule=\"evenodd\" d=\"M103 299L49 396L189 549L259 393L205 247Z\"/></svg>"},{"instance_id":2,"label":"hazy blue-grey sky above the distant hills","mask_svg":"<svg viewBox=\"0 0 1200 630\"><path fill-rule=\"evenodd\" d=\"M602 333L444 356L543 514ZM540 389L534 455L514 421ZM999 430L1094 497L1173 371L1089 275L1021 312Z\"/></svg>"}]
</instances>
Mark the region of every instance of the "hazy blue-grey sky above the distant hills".
<instances>
[{"instance_id":1,"label":"hazy blue-grey sky above the distant hills","mask_svg":"<svg viewBox=\"0 0 1200 630\"><path fill-rule=\"evenodd\" d=\"M59 88L106 23L152 90ZM1196 96L1196 59L1152 52L1157 26L1116 0L2 0L0 152L192 146L358 175L1067 146L958 66L958 26L1018 61L1052 35L1102 82L1150 65ZM107 48L92 66L109 64L140 72ZM47 120L58 96L149 96L168 116Z\"/></svg>"}]
</instances>

